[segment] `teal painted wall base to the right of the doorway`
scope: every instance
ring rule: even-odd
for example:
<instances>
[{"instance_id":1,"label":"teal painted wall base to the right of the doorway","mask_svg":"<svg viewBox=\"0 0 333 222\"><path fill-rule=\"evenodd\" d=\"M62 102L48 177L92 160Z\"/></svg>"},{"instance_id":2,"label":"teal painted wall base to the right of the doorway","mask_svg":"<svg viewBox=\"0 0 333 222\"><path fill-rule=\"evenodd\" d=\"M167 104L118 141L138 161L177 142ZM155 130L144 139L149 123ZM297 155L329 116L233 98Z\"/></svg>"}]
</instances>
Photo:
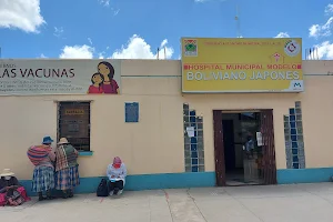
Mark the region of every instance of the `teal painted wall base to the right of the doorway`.
<instances>
[{"instance_id":1,"label":"teal painted wall base to the right of the doorway","mask_svg":"<svg viewBox=\"0 0 333 222\"><path fill-rule=\"evenodd\" d=\"M278 170L279 184L329 182L333 168L283 169Z\"/></svg>"}]
</instances>

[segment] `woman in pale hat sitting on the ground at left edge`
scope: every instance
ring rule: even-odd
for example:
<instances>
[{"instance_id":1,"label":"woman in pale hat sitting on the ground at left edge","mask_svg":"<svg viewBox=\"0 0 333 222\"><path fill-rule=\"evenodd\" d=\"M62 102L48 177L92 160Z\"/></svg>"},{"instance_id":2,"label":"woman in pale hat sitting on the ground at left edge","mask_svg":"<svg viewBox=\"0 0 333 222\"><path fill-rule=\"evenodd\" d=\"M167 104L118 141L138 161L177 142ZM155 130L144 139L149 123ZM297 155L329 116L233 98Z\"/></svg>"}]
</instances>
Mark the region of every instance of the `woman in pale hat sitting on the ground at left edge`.
<instances>
[{"instance_id":1,"label":"woman in pale hat sitting on the ground at left edge","mask_svg":"<svg viewBox=\"0 0 333 222\"><path fill-rule=\"evenodd\" d=\"M20 185L14 173L9 169L4 169L0 174L0 204L1 205L21 205L28 201L28 196L23 186Z\"/></svg>"}]
</instances>

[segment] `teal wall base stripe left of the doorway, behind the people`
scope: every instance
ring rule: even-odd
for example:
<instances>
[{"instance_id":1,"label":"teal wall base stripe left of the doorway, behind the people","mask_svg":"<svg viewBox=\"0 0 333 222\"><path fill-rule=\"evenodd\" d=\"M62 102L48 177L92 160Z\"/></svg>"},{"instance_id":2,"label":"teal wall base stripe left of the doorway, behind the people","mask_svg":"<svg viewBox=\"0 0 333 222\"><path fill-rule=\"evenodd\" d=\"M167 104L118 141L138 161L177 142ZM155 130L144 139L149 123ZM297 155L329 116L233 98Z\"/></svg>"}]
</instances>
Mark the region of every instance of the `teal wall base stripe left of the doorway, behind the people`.
<instances>
[{"instance_id":1,"label":"teal wall base stripe left of the doorway, behind the people","mask_svg":"<svg viewBox=\"0 0 333 222\"><path fill-rule=\"evenodd\" d=\"M75 188L75 193L94 193L102 178L103 176L81 178L81 184ZM36 195L36 193L31 192L30 180L23 180L20 181L20 183L26 188L28 195ZM125 190L140 191L214 185L215 172L139 174L127 176Z\"/></svg>"}]
</instances>

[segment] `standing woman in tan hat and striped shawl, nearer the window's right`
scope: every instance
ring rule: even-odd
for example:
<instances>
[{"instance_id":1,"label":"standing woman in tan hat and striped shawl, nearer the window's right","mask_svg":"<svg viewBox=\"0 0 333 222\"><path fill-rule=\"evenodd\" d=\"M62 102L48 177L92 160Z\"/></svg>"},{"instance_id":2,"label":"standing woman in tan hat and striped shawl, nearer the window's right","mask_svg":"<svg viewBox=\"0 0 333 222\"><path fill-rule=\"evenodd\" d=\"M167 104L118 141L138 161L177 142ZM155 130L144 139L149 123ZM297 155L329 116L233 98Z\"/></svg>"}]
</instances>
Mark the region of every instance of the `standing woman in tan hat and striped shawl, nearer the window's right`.
<instances>
[{"instance_id":1,"label":"standing woman in tan hat and striped shawl, nearer the window's right","mask_svg":"<svg viewBox=\"0 0 333 222\"><path fill-rule=\"evenodd\" d=\"M80 184L78 151L65 138L61 138L56 150L56 189L62 191L64 199L73 196Z\"/></svg>"}]
</instances>

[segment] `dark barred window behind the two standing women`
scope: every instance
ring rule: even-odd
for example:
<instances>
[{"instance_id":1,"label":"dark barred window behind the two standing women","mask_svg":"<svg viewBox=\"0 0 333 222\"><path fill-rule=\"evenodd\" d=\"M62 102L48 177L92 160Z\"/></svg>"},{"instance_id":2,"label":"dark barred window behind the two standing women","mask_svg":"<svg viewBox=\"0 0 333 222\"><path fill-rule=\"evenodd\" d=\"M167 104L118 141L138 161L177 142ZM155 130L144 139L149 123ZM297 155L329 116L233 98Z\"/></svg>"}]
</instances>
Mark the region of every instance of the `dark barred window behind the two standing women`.
<instances>
[{"instance_id":1,"label":"dark barred window behind the two standing women","mask_svg":"<svg viewBox=\"0 0 333 222\"><path fill-rule=\"evenodd\" d=\"M58 103L58 140L67 138L78 151L90 151L90 102Z\"/></svg>"}]
</instances>

